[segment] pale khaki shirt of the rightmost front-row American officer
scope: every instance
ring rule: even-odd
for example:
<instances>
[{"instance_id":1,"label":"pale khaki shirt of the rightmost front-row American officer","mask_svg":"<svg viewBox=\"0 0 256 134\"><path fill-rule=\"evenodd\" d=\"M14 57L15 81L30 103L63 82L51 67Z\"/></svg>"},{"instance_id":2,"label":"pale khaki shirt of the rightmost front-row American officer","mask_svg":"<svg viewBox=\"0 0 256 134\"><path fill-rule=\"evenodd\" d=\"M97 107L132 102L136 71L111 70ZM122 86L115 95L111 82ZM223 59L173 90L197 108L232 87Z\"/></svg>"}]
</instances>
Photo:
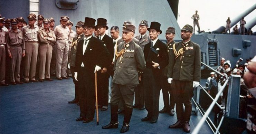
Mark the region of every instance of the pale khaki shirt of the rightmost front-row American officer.
<instances>
[{"instance_id":1,"label":"pale khaki shirt of the rightmost front-row American officer","mask_svg":"<svg viewBox=\"0 0 256 134\"><path fill-rule=\"evenodd\" d=\"M69 39L69 33L70 30L68 27L63 27L62 25L58 25L55 29L54 29L54 34L56 36L57 39Z\"/></svg>"}]
</instances>

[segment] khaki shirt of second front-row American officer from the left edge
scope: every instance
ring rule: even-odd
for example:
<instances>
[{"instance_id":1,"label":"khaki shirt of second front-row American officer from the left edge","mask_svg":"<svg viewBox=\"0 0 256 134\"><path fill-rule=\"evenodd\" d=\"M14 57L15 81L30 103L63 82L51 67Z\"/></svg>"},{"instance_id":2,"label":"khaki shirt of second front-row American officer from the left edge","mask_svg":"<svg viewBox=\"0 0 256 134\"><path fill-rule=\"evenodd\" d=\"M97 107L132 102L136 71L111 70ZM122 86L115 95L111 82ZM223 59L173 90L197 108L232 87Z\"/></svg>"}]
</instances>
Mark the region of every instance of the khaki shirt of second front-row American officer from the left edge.
<instances>
[{"instance_id":1,"label":"khaki shirt of second front-row American officer from the left edge","mask_svg":"<svg viewBox=\"0 0 256 134\"><path fill-rule=\"evenodd\" d=\"M20 29L17 28L17 32L14 30L10 30L9 32L6 33L6 43L7 43L7 48L8 52L10 54L10 46L21 46L22 47L22 52L25 52L25 45L23 45L23 34Z\"/></svg>"}]
</instances>

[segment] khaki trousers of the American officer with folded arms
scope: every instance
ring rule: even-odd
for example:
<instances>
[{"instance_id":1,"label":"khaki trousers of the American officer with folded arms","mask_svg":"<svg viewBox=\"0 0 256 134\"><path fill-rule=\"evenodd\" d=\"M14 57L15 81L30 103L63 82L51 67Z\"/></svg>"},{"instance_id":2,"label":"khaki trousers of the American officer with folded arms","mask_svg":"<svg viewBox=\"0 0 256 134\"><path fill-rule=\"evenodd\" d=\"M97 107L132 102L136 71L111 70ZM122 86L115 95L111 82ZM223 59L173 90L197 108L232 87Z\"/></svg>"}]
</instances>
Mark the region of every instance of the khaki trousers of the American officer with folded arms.
<instances>
[{"instance_id":1,"label":"khaki trousers of the American officer with folded arms","mask_svg":"<svg viewBox=\"0 0 256 134\"><path fill-rule=\"evenodd\" d=\"M50 78L50 63L53 46L40 44L39 46L39 79Z\"/></svg>"}]
</instances>

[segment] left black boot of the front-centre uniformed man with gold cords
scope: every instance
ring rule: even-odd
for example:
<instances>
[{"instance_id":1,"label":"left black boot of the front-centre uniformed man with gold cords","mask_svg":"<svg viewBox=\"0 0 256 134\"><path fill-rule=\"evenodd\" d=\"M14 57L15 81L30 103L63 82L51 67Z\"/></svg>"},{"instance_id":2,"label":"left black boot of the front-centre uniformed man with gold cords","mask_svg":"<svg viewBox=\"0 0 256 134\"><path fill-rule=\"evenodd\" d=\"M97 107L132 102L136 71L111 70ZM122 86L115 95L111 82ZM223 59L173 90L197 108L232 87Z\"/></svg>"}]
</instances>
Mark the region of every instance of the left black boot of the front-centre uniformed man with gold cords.
<instances>
[{"instance_id":1,"label":"left black boot of the front-centre uniformed man with gold cords","mask_svg":"<svg viewBox=\"0 0 256 134\"><path fill-rule=\"evenodd\" d=\"M102 126L102 129L118 128L118 105L111 105L111 121L106 126Z\"/></svg>"}]
</instances>

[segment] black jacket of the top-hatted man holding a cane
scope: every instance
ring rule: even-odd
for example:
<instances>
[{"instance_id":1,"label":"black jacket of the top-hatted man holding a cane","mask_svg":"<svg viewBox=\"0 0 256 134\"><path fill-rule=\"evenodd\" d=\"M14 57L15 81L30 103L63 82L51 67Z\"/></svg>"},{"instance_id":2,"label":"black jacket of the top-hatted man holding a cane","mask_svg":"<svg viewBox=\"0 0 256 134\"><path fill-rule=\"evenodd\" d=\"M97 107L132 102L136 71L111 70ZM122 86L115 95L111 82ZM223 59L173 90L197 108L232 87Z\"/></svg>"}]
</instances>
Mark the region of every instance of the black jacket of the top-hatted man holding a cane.
<instances>
[{"instance_id":1,"label":"black jacket of the top-hatted man holding a cane","mask_svg":"<svg viewBox=\"0 0 256 134\"><path fill-rule=\"evenodd\" d=\"M83 71L87 73L88 76L91 76L91 78L93 78L94 69L96 65L101 68L109 65L109 61L108 61L109 52L107 48L103 45L101 40L95 37L91 37L86 47L85 54L83 55L83 44L84 44L83 40L78 42L77 52L76 52L75 72L78 72L78 75L79 75L79 72ZM82 63L84 63L85 67L81 67Z\"/></svg>"}]
</instances>

